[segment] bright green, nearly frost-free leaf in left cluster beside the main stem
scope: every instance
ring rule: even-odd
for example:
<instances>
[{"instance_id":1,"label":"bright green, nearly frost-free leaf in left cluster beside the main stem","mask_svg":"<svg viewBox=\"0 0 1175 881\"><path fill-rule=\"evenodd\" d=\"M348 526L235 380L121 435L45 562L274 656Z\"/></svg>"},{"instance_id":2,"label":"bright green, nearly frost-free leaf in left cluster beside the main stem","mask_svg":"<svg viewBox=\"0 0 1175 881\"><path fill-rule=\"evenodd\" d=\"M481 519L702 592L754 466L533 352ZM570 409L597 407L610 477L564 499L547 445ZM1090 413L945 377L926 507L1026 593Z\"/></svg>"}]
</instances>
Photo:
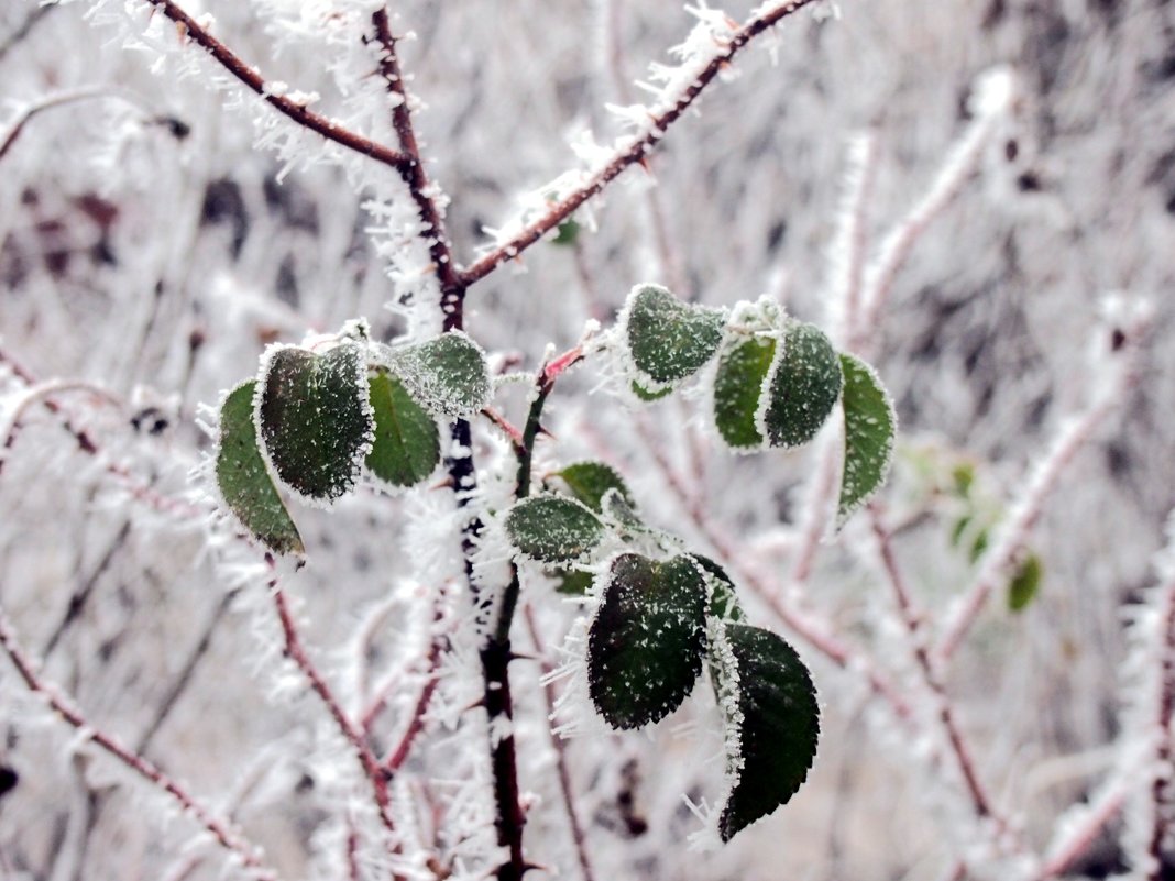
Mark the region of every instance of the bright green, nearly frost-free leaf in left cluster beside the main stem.
<instances>
[{"instance_id":1,"label":"bright green, nearly frost-free leaf in left cluster beside the main stem","mask_svg":"<svg viewBox=\"0 0 1175 881\"><path fill-rule=\"evenodd\" d=\"M385 370L377 370L368 379L368 389L375 411L368 471L392 486L415 486L427 480L441 462L441 438L432 416Z\"/></svg>"}]
</instances>

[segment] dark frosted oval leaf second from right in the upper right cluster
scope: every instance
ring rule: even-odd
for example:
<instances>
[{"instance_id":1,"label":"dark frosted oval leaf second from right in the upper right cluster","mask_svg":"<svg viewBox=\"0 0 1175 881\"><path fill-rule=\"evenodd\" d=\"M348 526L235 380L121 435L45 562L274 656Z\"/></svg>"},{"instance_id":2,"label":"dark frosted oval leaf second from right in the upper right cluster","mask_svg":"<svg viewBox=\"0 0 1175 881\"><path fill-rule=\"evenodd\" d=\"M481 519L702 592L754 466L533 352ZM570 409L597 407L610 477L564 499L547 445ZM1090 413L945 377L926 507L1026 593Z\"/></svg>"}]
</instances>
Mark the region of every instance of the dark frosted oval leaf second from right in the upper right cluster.
<instances>
[{"instance_id":1,"label":"dark frosted oval leaf second from right in the upper right cluster","mask_svg":"<svg viewBox=\"0 0 1175 881\"><path fill-rule=\"evenodd\" d=\"M815 437L840 397L840 358L814 324L788 322L776 359L763 424L772 446L801 446Z\"/></svg>"}]
</instances>

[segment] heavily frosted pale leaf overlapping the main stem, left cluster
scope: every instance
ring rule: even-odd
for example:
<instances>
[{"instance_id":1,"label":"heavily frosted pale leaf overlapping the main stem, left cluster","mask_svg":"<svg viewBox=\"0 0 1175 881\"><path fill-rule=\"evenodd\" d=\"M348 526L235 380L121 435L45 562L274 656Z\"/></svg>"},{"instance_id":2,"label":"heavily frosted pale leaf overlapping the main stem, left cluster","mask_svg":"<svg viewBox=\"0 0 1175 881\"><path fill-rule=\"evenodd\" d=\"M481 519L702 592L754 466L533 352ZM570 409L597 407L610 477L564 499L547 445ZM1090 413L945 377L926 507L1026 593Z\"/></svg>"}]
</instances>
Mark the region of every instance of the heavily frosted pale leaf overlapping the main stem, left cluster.
<instances>
[{"instance_id":1,"label":"heavily frosted pale leaf overlapping the main stem, left cluster","mask_svg":"<svg viewBox=\"0 0 1175 881\"><path fill-rule=\"evenodd\" d=\"M434 416L466 419L490 403L485 352L459 330L392 349L388 358L408 392Z\"/></svg>"}]
</instances>

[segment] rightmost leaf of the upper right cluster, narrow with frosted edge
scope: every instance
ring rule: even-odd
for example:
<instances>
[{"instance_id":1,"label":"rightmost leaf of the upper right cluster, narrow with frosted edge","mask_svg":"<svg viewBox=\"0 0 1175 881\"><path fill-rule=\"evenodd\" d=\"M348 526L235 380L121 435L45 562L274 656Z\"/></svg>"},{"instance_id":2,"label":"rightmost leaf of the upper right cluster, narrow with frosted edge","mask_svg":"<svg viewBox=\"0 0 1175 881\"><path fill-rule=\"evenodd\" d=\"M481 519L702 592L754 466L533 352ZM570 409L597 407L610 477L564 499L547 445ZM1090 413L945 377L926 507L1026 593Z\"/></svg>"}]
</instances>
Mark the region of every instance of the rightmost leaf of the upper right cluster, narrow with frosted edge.
<instances>
[{"instance_id":1,"label":"rightmost leaf of the upper right cluster, narrow with frosted edge","mask_svg":"<svg viewBox=\"0 0 1175 881\"><path fill-rule=\"evenodd\" d=\"M885 483L893 460L898 416L877 372L860 358L840 356L845 390L845 463L840 476L837 525L864 505Z\"/></svg>"}]
</instances>

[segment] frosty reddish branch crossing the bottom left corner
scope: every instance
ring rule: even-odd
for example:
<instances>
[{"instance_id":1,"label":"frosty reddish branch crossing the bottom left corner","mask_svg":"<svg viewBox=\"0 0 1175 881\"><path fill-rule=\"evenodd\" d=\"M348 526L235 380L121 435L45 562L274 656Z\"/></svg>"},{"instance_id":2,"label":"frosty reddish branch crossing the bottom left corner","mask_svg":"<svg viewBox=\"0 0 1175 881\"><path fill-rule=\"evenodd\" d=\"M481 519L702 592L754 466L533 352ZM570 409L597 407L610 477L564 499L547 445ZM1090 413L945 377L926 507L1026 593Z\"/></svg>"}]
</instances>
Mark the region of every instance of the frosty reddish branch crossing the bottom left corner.
<instances>
[{"instance_id":1,"label":"frosty reddish branch crossing the bottom left corner","mask_svg":"<svg viewBox=\"0 0 1175 881\"><path fill-rule=\"evenodd\" d=\"M0 608L0 645L16 667L20 678L29 691L40 694L63 721L85 733L87 740L100 747L108 755L130 768L156 789L167 793L183 811L207 829L216 842L226 850L236 854L242 863L253 870L258 879L275 881L276 873L261 861L257 849L226 820L216 816L208 807L195 799L180 784L164 774L160 768L142 755L122 746L112 735L95 728L73 701L67 699L55 685L41 679L36 667L25 648L18 641L15 631L4 608Z\"/></svg>"}]
</instances>

